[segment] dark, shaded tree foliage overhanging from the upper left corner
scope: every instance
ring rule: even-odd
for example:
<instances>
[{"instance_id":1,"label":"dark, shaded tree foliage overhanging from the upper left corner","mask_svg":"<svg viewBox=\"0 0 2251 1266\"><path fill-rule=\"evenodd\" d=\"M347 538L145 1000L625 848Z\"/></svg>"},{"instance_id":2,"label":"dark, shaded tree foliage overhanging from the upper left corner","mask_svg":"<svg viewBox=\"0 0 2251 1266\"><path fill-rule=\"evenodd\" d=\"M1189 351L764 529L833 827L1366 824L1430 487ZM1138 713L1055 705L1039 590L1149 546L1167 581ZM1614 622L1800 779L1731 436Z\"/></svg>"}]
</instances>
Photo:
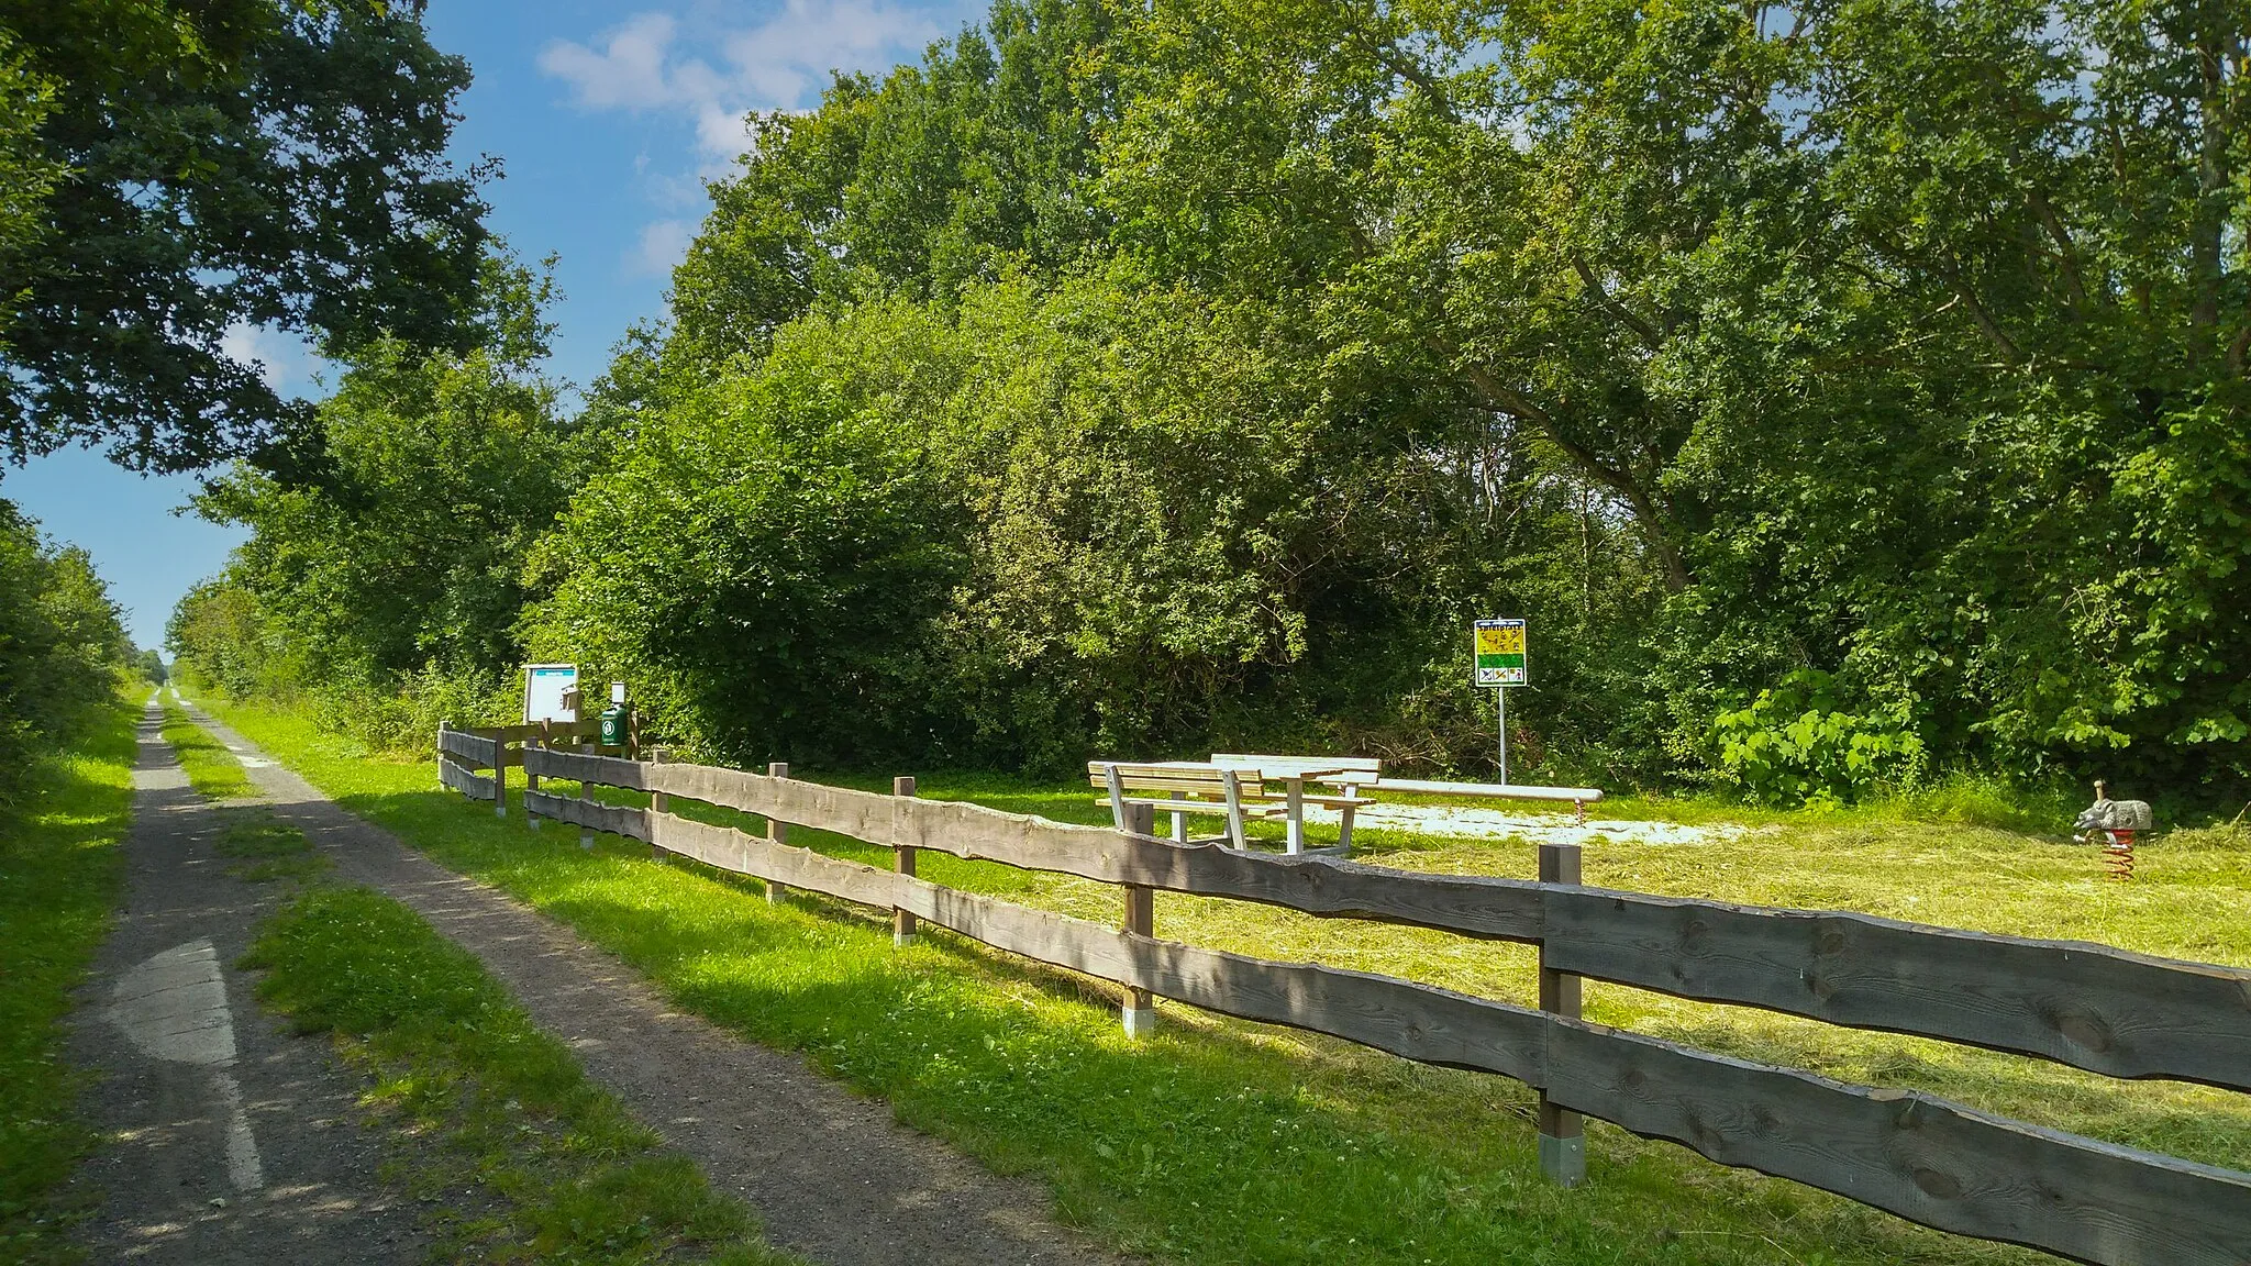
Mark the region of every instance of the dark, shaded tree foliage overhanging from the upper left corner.
<instances>
[{"instance_id":1,"label":"dark, shaded tree foliage overhanging from the upper left corner","mask_svg":"<svg viewBox=\"0 0 2251 1266\"><path fill-rule=\"evenodd\" d=\"M0 5L0 448L279 466L311 414L232 331L473 345L466 83L407 0Z\"/></svg>"}]
</instances>

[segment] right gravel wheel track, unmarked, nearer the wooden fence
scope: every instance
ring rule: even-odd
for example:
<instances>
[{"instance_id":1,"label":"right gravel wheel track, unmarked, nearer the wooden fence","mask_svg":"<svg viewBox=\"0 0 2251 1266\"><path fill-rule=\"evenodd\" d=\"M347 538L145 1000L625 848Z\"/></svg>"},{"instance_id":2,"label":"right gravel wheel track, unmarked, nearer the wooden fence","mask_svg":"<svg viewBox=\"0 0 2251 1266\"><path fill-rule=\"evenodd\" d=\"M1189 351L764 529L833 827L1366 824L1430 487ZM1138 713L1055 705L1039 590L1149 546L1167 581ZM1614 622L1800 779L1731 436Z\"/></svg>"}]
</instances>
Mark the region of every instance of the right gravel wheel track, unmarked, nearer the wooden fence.
<instances>
[{"instance_id":1,"label":"right gravel wheel track, unmarked, nearer the wooden fence","mask_svg":"<svg viewBox=\"0 0 2251 1266\"><path fill-rule=\"evenodd\" d=\"M765 1234L828 1266L1065 1266L1116 1261L1060 1228L1031 1183L997 1178L900 1126L795 1054L675 1011L608 953L502 892L461 879L342 809L200 712L351 883L419 910L475 953L590 1077L741 1194Z\"/></svg>"}]
</instances>

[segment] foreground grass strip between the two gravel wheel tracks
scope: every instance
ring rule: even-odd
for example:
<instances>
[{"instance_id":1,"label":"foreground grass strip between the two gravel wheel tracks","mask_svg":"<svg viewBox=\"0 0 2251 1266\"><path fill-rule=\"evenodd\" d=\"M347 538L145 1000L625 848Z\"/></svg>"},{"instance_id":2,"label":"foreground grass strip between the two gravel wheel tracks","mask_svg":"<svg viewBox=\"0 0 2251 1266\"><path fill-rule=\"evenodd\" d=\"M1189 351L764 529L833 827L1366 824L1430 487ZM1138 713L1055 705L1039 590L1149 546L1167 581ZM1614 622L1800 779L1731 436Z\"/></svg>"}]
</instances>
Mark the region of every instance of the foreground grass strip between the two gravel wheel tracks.
<instances>
[{"instance_id":1,"label":"foreground grass strip between the two gravel wheel tracks","mask_svg":"<svg viewBox=\"0 0 2251 1266\"><path fill-rule=\"evenodd\" d=\"M266 969L259 998L299 1032L335 1036L371 1081L367 1108L416 1135L403 1176L432 1201L432 1259L790 1261L405 906L313 888L243 966ZM459 1192L477 1198L434 1203Z\"/></svg>"}]
</instances>

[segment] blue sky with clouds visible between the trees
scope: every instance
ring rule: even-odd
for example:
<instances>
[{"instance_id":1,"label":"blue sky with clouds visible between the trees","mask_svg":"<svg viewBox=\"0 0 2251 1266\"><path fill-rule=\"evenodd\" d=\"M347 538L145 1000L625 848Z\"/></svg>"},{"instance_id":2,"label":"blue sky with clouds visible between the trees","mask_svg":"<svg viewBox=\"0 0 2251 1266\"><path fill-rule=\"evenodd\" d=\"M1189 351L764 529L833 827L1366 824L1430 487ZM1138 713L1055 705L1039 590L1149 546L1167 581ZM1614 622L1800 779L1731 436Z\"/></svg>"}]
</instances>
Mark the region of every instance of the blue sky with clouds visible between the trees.
<instances>
[{"instance_id":1,"label":"blue sky with clouds visible between the trees","mask_svg":"<svg viewBox=\"0 0 2251 1266\"><path fill-rule=\"evenodd\" d=\"M455 149L506 171L486 189L488 223L527 259L560 257L551 369L592 381L626 327L664 311L671 266L709 207L702 182L741 153L747 110L813 106L831 70L912 61L977 11L959 0L434 0L432 43L477 74ZM322 394L320 365L293 340L245 329L236 347L281 390ZM194 489L194 478L144 480L83 451L0 469L0 498L95 556L142 647L164 638L171 604L241 538L173 514Z\"/></svg>"}]
</instances>

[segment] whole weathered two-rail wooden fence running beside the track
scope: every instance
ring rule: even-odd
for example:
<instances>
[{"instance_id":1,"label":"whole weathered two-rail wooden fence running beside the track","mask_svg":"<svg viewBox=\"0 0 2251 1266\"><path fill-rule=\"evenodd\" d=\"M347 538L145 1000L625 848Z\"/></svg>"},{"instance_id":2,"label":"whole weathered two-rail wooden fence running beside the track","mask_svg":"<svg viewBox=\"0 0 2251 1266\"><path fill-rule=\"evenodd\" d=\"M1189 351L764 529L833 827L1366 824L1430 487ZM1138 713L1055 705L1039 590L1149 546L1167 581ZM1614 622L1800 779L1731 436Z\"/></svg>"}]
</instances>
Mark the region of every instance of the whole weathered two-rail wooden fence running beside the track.
<instances>
[{"instance_id":1,"label":"whole weathered two-rail wooden fence running beside the track","mask_svg":"<svg viewBox=\"0 0 2251 1266\"><path fill-rule=\"evenodd\" d=\"M448 746L452 743L452 746ZM2109 946L1994 937L1850 912L1769 910L1578 883L1576 849L1542 849L1542 881L1441 876L1319 856L1175 845L975 804L912 800L689 764L439 737L441 752L522 764L527 777L653 793L648 809L524 793L533 815L894 910L900 937L939 924L1148 998L1292 1025L1423 1063L1515 1077L1542 1095L1542 1162L1576 1144L1576 1113L1681 1142L1940 1230L2105 1266L2251 1264L2251 1174L2078 1138L1916 1090L1848 1086L1578 1018L1578 978L1835 1025L2039 1057L2123 1079L2251 1090L2251 971ZM781 773L781 770L777 770ZM912 793L912 782L903 779ZM452 782L448 782L452 786ZM493 788L500 791L497 784ZM669 811L671 797L768 818L768 836ZM876 870L786 842L786 824L887 845ZM914 854L1123 885L1123 928L936 885ZM1150 937L1153 890L1378 919L1540 946L1542 1009L1411 980L1270 962ZM772 892L772 888L770 888ZM1551 1151L1553 1149L1553 1151Z\"/></svg>"}]
</instances>

